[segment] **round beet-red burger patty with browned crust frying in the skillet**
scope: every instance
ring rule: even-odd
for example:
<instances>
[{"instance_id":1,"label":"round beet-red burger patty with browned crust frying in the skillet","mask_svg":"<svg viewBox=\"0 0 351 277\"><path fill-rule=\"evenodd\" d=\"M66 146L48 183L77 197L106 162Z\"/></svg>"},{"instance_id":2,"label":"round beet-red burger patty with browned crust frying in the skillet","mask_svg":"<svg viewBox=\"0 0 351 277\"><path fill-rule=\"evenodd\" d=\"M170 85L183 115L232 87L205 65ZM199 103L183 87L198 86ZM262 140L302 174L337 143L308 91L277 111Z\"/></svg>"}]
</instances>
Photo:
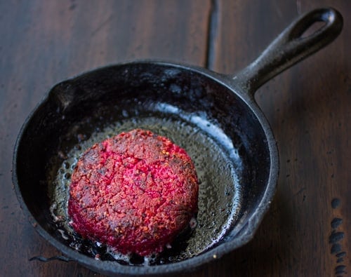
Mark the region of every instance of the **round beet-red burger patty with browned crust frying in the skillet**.
<instances>
[{"instance_id":1,"label":"round beet-red burger patty with browned crust frying in the skillet","mask_svg":"<svg viewBox=\"0 0 351 277\"><path fill-rule=\"evenodd\" d=\"M79 159L69 187L72 227L123 253L161 252L197 212L199 186L184 149L149 130L99 142Z\"/></svg>"}]
</instances>

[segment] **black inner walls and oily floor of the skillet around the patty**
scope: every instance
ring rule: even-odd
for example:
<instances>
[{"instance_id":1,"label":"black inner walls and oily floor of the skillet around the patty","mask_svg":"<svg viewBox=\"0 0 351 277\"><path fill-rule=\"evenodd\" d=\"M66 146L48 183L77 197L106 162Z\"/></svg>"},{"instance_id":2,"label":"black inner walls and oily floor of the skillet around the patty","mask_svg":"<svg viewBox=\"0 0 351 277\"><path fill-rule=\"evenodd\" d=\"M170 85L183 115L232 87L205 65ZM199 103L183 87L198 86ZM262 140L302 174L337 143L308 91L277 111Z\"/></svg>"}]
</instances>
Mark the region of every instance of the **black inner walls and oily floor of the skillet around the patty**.
<instances>
[{"instance_id":1,"label":"black inner walls and oily floor of the skillet around the patty","mask_svg":"<svg viewBox=\"0 0 351 277\"><path fill-rule=\"evenodd\" d=\"M79 156L133 128L183 147L199 177L196 229L156 259L111 255L67 224L69 177ZM16 151L23 201L52 240L138 266L179 262L234 240L260 203L270 168L263 128L230 88L187 68L150 63L105 67L58 84L27 121Z\"/></svg>"}]
</instances>

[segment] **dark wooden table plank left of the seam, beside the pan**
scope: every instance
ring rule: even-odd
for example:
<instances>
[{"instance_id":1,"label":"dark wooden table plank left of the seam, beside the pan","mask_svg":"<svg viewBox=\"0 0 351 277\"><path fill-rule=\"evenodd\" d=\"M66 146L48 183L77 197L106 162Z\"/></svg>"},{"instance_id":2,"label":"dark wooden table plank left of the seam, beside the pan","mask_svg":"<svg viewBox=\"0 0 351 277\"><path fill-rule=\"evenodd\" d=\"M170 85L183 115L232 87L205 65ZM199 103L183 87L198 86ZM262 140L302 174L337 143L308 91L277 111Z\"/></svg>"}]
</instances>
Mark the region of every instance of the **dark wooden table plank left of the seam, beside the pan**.
<instances>
[{"instance_id":1,"label":"dark wooden table plank left of the seam, beside the pan","mask_svg":"<svg viewBox=\"0 0 351 277\"><path fill-rule=\"evenodd\" d=\"M20 126L58 81L154 58L204 65L209 1L1 1L0 276L95 276L60 255L24 217L11 186Z\"/></svg>"}]
</instances>

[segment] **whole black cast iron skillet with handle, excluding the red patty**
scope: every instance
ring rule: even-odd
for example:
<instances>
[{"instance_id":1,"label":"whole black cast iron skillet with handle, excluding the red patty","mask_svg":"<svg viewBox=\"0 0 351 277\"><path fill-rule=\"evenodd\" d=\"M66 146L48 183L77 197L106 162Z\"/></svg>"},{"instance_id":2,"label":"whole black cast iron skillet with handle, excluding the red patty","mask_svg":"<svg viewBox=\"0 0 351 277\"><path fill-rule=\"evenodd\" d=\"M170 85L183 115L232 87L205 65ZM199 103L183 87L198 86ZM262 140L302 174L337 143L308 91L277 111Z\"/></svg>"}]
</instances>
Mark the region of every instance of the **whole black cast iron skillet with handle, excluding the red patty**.
<instances>
[{"instance_id":1,"label":"whole black cast iron skillet with handle, excluding the red patty","mask_svg":"<svg viewBox=\"0 0 351 277\"><path fill-rule=\"evenodd\" d=\"M324 25L304 36L315 22ZM29 221L69 259L112 276L183 272L244 245L270 206L279 165L276 143L254 93L333 41L342 26L333 8L306 13L234 78L199 67L141 61L58 83L29 115L15 144L13 182ZM184 147L200 181L197 228L153 265L140 257L111 261L112 256L102 254L94 259L100 245L81 241L53 220L59 213L53 203L60 201L60 195L53 196L54 186L60 178L69 180L72 156L106 135L136 127ZM65 199L65 191L62 195Z\"/></svg>"}]
</instances>

